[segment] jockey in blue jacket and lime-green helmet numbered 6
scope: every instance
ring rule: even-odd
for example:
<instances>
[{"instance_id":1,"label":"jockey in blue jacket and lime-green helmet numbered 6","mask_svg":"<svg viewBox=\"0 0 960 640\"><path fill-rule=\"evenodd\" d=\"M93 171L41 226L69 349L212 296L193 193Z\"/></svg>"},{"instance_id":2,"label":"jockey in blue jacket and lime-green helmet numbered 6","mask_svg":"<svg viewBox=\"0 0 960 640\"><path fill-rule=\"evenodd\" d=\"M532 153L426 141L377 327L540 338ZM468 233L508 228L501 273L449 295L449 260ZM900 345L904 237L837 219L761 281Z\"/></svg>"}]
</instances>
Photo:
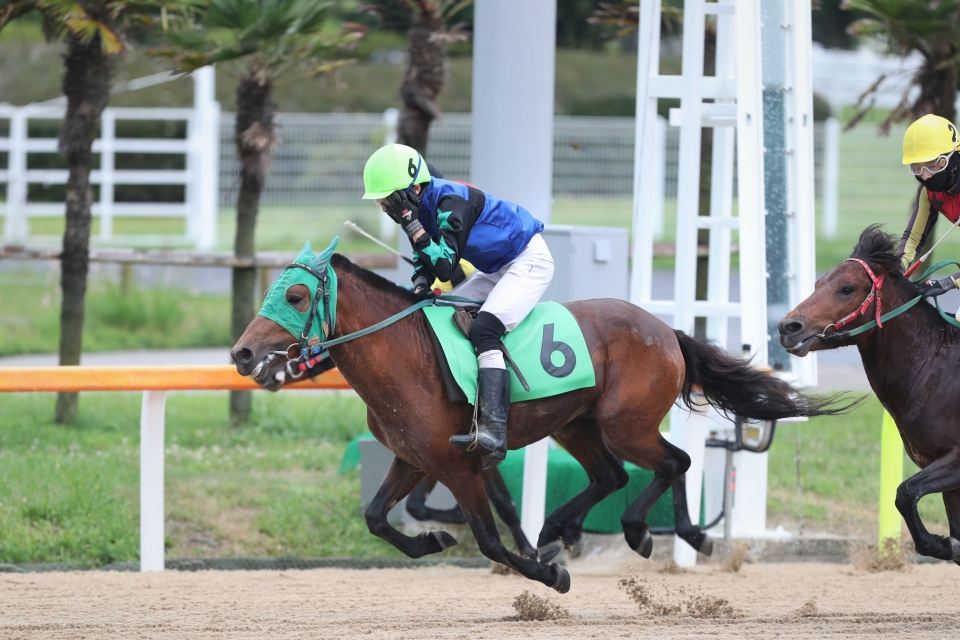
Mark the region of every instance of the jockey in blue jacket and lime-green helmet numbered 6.
<instances>
[{"instance_id":1,"label":"jockey in blue jacket and lime-green helmet numbered 6","mask_svg":"<svg viewBox=\"0 0 960 640\"><path fill-rule=\"evenodd\" d=\"M477 435L456 435L461 450L476 440L483 455L507 455L510 377L500 339L533 310L553 279L553 257L540 237L543 223L523 207L476 187L431 177L415 149L390 144L378 149L363 169L364 199L380 208L407 234L413 246L413 292L433 295L434 279L449 281L460 259L476 271L457 295L484 300L470 329L479 362Z\"/></svg>"}]
</instances>

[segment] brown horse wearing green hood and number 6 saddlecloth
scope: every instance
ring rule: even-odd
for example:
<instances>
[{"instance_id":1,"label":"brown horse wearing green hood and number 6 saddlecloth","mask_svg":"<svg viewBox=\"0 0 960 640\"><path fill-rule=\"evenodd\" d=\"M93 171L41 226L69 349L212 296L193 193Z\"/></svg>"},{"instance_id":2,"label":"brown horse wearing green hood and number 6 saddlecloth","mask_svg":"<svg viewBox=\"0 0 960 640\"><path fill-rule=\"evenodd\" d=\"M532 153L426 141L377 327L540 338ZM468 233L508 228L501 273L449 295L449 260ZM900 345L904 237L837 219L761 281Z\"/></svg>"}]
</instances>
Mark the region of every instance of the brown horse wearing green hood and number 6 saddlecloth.
<instances>
[{"instance_id":1,"label":"brown horse wearing green hood and number 6 saddlecloth","mask_svg":"<svg viewBox=\"0 0 960 640\"><path fill-rule=\"evenodd\" d=\"M370 327L417 302L408 290L341 255L334 254L330 266L337 276L335 330L339 336ZM303 284L279 294L301 313L309 312L315 302L314 292ZM660 422L678 396L690 405L694 385L720 410L746 418L769 420L840 410L830 400L796 395L785 382L670 329L622 300L572 302L566 307L586 339L596 386L514 403L509 418L510 449L553 435L590 479L586 489L546 519L538 547L550 553L555 553L568 526L626 485L629 478L620 460L629 460L654 472L651 484L621 518L630 547L643 557L650 556L647 513L690 465L689 456L661 436ZM261 365L286 352L291 342L295 342L293 336L279 324L257 316L231 352L237 371L266 375L268 367ZM485 556L561 593L569 590L570 576L563 567L522 558L501 544L481 480L483 460L476 452L449 445L451 435L469 431L472 408L446 400L423 314L331 346L330 354L367 404L370 431L396 455L366 510L372 534L410 557L456 544L444 531L410 537L387 522L390 509L429 475L453 493ZM687 514L683 491L674 492L674 501L679 513ZM689 517L687 523L677 524L678 528L689 525Z\"/></svg>"}]
</instances>

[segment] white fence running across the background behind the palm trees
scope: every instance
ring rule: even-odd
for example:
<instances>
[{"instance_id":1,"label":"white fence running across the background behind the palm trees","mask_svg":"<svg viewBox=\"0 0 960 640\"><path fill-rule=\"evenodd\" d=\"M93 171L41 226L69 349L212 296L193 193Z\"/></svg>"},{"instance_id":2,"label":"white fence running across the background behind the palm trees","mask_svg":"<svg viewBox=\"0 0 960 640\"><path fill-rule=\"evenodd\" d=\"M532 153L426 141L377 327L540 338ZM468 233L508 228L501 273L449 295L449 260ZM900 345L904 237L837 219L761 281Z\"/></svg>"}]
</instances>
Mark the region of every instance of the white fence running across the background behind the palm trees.
<instances>
[{"instance_id":1,"label":"white fence running across the background behind the palm trees","mask_svg":"<svg viewBox=\"0 0 960 640\"><path fill-rule=\"evenodd\" d=\"M219 106L212 101L212 85L210 99L203 99L202 93L198 92L198 103L199 106L193 109L117 108L104 112L101 136L94 143L99 166L95 165L91 176L95 189L99 189L93 208L95 220L99 221L99 229L93 238L95 242L137 246L179 244L202 249L215 244L218 210L222 208L226 213L233 208L239 188L234 115L224 113L221 116ZM50 159L56 157L57 140L52 137L52 132L62 117L63 107L0 105L0 189L6 183L6 203L5 206L0 203L0 215L3 215L4 238L8 243L40 239L43 234L31 228L31 220L62 219L62 201L43 202L32 197L32 193L42 191L42 187L66 182L66 169L42 168L49 166ZM129 125L133 120L163 123L173 133L168 134L169 137L118 136L117 124ZM554 195L629 199L633 189L633 119L557 116L554 122ZM31 127L38 123L40 126L36 128L44 129L45 137L30 135ZM171 127L171 124L177 126ZM261 202L265 206L362 206L358 194L363 190L363 165L390 136L389 118L384 114L281 113L277 124L280 144L273 152L271 173L262 194ZM864 133L868 127L861 125ZM211 135L214 131L218 132L217 136ZM818 123L817 191L818 195L823 195L821 184L829 187L824 200L824 222L828 232L835 232L837 228L837 190L838 182L843 179L837 179L841 174L838 151L841 136L835 126L832 133L835 146L831 154L825 152L825 146L830 145L824 144L824 127ZM869 132L868 135L875 134ZM469 114L446 114L434 124L428 156L444 176L459 180L470 178L470 136ZM847 136L842 138L846 140ZM696 187L684 184L677 176L678 129L665 127L663 140L664 196L673 198L678 188ZM895 142L891 141L891 144L896 146ZM857 149L849 146L845 146L844 154L856 153ZM871 162L876 161L873 146L869 157ZM4 152L6 168L2 164ZM130 158L139 154L162 155L167 160L172 158L177 168L128 168ZM865 159L867 155L865 149ZM825 158L832 167L826 173L823 172ZM897 159L891 162L895 163ZM856 163L847 164L853 166ZM824 175L830 177L824 181L821 179ZM131 188L152 185L179 188L182 197L175 202L149 202L143 197L129 201ZM125 191L128 199L117 197L117 187ZM864 201L864 216L875 208ZM114 224L117 218L140 218L145 224L128 223L118 228ZM143 219L151 219L151 222L166 219L180 224L176 233L171 234L169 229L163 233L162 225L151 227ZM271 225L275 224L296 223L280 216L271 222ZM151 233L151 229L160 229L161 232L154 230ZM58 239L57 235L50 239ZM220 244L225 242L220 238Z\"/></svg>"}]
</instances>

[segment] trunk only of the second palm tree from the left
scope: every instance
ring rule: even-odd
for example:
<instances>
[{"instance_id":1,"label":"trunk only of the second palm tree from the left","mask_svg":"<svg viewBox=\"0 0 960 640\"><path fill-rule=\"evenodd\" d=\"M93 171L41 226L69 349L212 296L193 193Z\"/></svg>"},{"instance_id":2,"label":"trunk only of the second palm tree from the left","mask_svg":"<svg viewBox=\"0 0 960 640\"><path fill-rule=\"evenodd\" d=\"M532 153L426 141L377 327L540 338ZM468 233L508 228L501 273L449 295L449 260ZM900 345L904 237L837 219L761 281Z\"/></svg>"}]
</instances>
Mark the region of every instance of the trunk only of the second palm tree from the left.
<instances>
[{"instance_id":1,"label":"trunk only of the second palm tree from the left","mask_svg":"<svg viewBox=\"0 0 960 640\"><path fill-rule=\"evenodd\" d=\"M270 169L274 136L273 84L261 74L244 78L237 86L236 144L240 156L240 194L237 198L237 235L234 254L254 255L254 237L260 193ZM236 342L257 313L256 269L234 268L231 332ZM250 419L250 392L230 392L230 422L246 424Z\"/></svg>"}]
</instances>

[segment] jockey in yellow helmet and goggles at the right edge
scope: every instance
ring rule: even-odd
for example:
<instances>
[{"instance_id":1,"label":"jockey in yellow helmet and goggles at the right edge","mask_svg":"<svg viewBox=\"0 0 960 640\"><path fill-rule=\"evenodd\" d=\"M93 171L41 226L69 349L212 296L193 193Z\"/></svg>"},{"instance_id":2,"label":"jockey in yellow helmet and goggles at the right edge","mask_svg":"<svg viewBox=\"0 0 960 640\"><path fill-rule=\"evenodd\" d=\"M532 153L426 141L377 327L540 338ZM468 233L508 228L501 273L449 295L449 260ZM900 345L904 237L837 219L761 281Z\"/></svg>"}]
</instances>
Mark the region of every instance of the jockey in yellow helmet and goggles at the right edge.
<instances>
[{"instance_id":1,"label":"jockey in yellow helmet and goggles at the right edge","mask_svg":"<svg viewBox=\"0 0 960 640\"><path fill-rule=\"evenodd\" d=\"M943 214L950 222L960 216L960 147L957 128L940 116L925 115L911 124L903 135L903 164L920 183L913 213L903 232L897 253L906 269L917 258L937 220ZM960 272L919 285L926 297L939 296L957 288Z\"/></svg>"}]
</instances>

